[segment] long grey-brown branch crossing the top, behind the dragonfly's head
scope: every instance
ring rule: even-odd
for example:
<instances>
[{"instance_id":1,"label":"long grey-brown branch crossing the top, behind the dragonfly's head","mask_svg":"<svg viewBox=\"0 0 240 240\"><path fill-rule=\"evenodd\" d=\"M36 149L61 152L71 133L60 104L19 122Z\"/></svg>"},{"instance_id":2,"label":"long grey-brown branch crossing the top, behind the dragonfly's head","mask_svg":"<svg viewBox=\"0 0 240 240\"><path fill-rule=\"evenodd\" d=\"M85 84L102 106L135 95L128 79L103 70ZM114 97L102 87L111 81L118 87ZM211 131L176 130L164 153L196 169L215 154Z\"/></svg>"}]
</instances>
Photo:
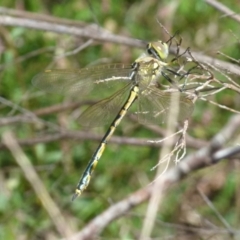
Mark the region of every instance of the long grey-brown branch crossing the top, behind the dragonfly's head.
<instances>
[{"instance_id":1,"label":"long grey-brown branch crossing the top, behind the dragonfly's head","mask_svg":"<svg viewBox=\"0 0 240 240\"><path fill-rule=\"evenodd\" d=\"M2 11L1 11L2 10ZM141 47L145 48L146 42L138 39L133 39L129 37L124 37L121 35L112 34L105 29L99 28L95 25L84 25L84 24L77 24L76 21L69 21L68 19L58 19L53 18L45 15L39 16L39 14L30 13L30 17L27 14L27 12L24 12L24 14L17 15L18 17L12 17L10 14L8 14L8 11L15 11L12 9L7 8L0 8L0 24L5 26L20 26L20 27L26 27L26 28L32 28L35 30L42 30L42 31L50 31L55 32L59 34L69 34L73 36L80 36L80 37L86 37L97 41L104 41L104 42L112 42L117 43L121 45L128 45L128 46L134 46L134 47ZM7 14L7 15L5 15ZM13 14L12 14L13 15ZM45 17L44 17L45 16ZM69 22L68 22L69 21ZM70 24L73 22L73 24ZM69 27L69 24L71 27ZM185 49L179 48L180 53L184 52ZM171 53L176 53L176 48L172 47L170 48ZM240 75L240 67L224 62L212 57L208 57L206 55L193 52L191 51L191 54L196 58L197 61L202 63L208 63L212 65L216 65L218 68L223 70L228 70L234 74Z\"/></svg>"}]
</instances>

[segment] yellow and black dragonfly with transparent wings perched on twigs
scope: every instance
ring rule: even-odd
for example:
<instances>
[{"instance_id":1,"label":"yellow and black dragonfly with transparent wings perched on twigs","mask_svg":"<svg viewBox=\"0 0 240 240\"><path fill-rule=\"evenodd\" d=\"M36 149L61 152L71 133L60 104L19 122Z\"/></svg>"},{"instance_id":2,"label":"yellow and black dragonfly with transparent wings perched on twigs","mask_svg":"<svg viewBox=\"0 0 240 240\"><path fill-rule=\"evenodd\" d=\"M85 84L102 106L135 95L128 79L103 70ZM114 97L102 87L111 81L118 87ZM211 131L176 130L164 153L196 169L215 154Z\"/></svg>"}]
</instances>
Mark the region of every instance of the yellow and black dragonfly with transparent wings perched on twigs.
<instances>
[{"instance_id":1,"label":"yellow and black dragonfly with transparent wings perched on twigs","mask_svg":"<svg viewBox=\"0 0 240 240\"><path fill-rule=\"evenodd\" d=\"M103 98L88 107L78 119L85 127L110 125L88 162L72 200L88 187L109 139L132 105L135 105L134 113L140 123L156 125L167 121L172 106L171 98L177 95L179 114L176 121L186 120L191 115L193 101L184 91L161 89L163 79L172 84L173 80L169 75L179 76L179 73L169 68L170 64L166 61L168 56L167 42L155 41L147 44L146 53L133 64L105 64L79 70L45 70L33 78L34 86L48 92L80 98ZM112 91L112 95L108 93Z\"/></svg>"}]
</instances>

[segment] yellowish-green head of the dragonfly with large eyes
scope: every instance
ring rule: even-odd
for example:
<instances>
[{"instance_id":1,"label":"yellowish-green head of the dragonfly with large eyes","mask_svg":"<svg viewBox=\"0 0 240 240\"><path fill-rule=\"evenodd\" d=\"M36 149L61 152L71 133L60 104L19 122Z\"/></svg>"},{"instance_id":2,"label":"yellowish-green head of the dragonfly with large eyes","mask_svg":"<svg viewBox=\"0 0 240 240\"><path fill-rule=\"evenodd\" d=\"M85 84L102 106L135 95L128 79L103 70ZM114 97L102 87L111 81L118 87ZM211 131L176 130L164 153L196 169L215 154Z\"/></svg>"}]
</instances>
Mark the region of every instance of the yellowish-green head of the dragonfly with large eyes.
<instances>
[{"instance_id":1,"label":"yellowish-green head of the dragonfly with large eyes","mask_svg":"<svg viewBox=\"0 0 240 240\"><path fill-rule=\"evenodd\" d=\"M168 45L165 42L157 41L151 42L147 45L147 53L154 58L164 60L168 57Z\"/></svg>"}]
</instances>

